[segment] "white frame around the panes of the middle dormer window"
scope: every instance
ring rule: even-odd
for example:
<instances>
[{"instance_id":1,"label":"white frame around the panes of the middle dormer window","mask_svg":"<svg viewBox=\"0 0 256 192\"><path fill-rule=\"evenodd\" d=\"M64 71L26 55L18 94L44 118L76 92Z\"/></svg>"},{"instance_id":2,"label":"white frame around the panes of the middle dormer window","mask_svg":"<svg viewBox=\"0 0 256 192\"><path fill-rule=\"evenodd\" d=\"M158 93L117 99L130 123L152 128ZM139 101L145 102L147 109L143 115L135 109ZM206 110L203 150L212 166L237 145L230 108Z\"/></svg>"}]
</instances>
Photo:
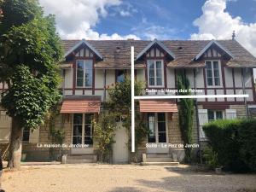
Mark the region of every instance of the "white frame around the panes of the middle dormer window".
<instances>
[{"instance_id":1,"label":"white frame around the panes of the middle dormer window","mask_svg":"<svg viewBox=\"0 0 256 192\"><path fill-rule=\"evenodd\" d=\"M150 85L150 79L149 79L149 65L148 65L148 62L149 61L154 61L154 85ZM161 85L157 85L157 77L156 77L156 62L157 61L160 61L161 62L161 73L162 73L162 77L161 77L161 81L162 81L162 84ZM148 74L147 74L147 78L148 78L148 87L155 87L155 88L162 88L162 87L165 87L165 73L164 73L164 61L163 60L159 60L159 59L148 59L147 60L147 71L148 71Z\"/></svg>"}]
</instances>

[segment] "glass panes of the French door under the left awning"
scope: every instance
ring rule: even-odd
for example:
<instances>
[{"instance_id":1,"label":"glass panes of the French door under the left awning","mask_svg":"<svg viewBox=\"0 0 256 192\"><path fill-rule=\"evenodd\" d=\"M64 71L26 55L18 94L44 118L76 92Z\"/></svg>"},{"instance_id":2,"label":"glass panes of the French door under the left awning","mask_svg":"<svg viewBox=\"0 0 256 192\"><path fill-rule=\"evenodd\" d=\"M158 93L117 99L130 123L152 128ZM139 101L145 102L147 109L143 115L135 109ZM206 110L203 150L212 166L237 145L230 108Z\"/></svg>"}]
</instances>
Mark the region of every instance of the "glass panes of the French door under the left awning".
<instances>
[{"instance_id":1,"label":"glass panes of the French door under the left awning","mask_svg":"<svg viewBox=\"0 0 256 192\"><path fill-rule=\"evenodd\" d=\"M93 144L93 113L73 114L73 144Z\"/></svg>"}]
</instances>

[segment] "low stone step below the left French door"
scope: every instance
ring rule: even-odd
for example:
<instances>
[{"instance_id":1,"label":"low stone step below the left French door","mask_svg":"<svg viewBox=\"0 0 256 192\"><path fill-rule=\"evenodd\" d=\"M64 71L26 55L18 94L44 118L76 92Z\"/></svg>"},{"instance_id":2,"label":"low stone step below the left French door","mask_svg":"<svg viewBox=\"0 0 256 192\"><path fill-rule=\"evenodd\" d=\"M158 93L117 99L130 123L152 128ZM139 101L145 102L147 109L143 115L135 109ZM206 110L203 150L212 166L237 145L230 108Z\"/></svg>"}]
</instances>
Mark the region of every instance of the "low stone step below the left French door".
<instances>
[{"instance_id":1,"label":"low stone step below the left French door","mask_svg":"<svg viewBox=\"0 0 256 192\"><path fill-rule=\"evenodd\" d=\"M80 164L80 163L96 163L96 154L64 154L61 160L62 164Z\"/></svg>"}]
</instances>

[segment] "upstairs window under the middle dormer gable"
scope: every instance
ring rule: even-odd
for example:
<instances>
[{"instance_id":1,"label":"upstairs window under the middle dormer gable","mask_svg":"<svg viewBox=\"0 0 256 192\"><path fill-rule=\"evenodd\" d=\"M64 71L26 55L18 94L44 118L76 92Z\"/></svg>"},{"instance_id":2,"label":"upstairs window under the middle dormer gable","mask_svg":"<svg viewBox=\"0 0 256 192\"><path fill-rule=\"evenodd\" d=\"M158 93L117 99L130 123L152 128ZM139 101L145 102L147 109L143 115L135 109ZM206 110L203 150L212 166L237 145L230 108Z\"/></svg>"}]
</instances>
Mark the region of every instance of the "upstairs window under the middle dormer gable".
<instances>
[{"instance_id":1,"label":"upstairs window under the middle dormer gable","mask_svg":"<svg viewBox=\"0 0 256 192\"><path fill-rule=\"evenodd\" d=\"M163 61L148 60L148 86L163 86Z\"/></svg>"}]
</instances>

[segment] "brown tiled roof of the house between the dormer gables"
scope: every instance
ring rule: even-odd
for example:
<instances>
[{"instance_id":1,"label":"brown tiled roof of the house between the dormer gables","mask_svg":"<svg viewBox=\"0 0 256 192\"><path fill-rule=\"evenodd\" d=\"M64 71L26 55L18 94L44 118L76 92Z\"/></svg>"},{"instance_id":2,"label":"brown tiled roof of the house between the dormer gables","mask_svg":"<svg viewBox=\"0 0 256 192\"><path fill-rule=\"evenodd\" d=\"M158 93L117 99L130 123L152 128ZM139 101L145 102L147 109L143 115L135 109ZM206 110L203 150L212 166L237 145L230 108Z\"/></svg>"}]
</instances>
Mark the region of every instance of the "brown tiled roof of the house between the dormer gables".
<instances>
[{"instance_id":1,"label":"brown tiled roof of the house between the dormer gables","mask_svg":"<svg viewBox=\"0 0 256 192\"><path fill-rule=\"evenodd\" d=\"M67 52L80 40L62 40ZM102 61L96 62L98 68L129 68L131 67L131 46L134 46L135 57L152 41L146 40L88 40L102 56ZM175 55L173 61L167 63L167 67L204 67L204 61L195 61L195 56L210 42L209 40L164 40L166 45ZM234 40L217 40L224 49L234 55L234 59L227 62L227 67L256 67L256 58ZM119 51L117 48L119 47ZM178 49L182 48L182 49ZM135 67L143 67L144 62L136 61Z\"/></svg>"}]
</instances>

